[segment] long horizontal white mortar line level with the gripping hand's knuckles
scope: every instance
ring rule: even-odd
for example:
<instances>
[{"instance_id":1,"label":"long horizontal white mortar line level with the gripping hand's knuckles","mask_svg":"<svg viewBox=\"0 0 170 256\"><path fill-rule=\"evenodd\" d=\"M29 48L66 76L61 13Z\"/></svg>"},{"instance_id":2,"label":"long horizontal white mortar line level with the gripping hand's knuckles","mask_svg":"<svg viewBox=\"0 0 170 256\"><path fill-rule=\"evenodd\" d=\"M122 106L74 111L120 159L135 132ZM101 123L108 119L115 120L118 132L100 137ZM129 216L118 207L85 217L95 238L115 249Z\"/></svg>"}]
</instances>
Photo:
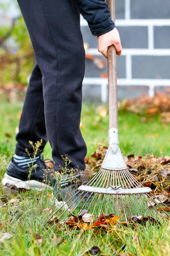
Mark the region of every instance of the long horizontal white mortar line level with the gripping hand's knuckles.
<instances>
[{"instance_id":1,"label":"long horizontal white mortar line level with the gripping hand's knuckles","mask_svg":"<svg viewBox=\"0 0 170 256\"><path fill-rule=\"evenodd\" d=\"M89 48L88 54L101 55L96 48ZM123 49L122 55L170 56L170 49ZM119 58L119 57L118 57Z\"/></svg>"}]
</instances>

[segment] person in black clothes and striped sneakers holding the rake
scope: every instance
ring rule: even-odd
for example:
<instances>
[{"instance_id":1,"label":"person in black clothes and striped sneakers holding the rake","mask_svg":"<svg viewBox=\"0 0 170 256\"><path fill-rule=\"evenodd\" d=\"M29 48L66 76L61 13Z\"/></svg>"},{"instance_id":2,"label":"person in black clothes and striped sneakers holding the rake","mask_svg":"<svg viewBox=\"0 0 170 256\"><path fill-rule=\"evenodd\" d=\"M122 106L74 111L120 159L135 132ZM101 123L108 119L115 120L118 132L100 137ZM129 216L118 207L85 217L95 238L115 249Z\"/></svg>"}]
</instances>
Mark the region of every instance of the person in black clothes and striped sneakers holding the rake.
<instances>
[{"instance_id":1,"label":"person in black clothes and striped sneakers holding the rake","mask_svg":"<svg viewBox=\"0 0 170 256\"><path fill-rule=\"evenodd\" d=\"M40 189L56 184L52 173L61 172L64 156L71 160L67 169L78 169L75 177L83 175L85 169L86 144L80 131L85 51L80 14L87 20L92 35L98 37L98 51L106 58L110 45L115 46L117 55L121 55L122 47L104 0L17 1L36 64L20 117L15 155L2 183ZM35 145L41 139L35 156L29 141ZM40 157L47 141L52 147L53 172ZM32 164L35 167L30 172ZM61 182L63 191L71 186L69 174L66 177L67 182Z\"/></svg>"}]
</instances>

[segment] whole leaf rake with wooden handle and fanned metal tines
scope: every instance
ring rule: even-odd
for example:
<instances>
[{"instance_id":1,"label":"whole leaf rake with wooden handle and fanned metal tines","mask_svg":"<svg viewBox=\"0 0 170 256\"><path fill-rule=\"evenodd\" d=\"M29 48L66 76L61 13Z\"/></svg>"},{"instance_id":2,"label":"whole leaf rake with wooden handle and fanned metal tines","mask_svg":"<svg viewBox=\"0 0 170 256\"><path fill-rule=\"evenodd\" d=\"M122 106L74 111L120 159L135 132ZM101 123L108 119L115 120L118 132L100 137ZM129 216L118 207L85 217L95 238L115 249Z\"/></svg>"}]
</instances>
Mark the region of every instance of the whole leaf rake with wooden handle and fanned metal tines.
<instances>
[{"instance_id":1,"label":"whole leaf rake with wooden handle and fanned metal tines","mask_svg":"<svg viewBox=\"0 0 170 256\"><path fill-rule=\"evenodd\" d=\"M115 0L107 0L107 2L112 20L115 21ZM86 209L96 218L101 214L112 212L115 215L121 215L122 221L128 221L133 216L149 215L163 219L167 223L165 217L170 218L170 215L160 208L159 204L166 207L167 205L152 194L152 189L142 186L129 172L119 148L117 68L114 46L108 49L108 86L109 148L101 169L86 185L79 186L77 192L53 215L58 212L60 213L58 218L61 219L65 213L68 214L68 211L70 215L81 215L81 212ZM170 210L168 207L166 209Z\"/></svg>"}]
</instances>

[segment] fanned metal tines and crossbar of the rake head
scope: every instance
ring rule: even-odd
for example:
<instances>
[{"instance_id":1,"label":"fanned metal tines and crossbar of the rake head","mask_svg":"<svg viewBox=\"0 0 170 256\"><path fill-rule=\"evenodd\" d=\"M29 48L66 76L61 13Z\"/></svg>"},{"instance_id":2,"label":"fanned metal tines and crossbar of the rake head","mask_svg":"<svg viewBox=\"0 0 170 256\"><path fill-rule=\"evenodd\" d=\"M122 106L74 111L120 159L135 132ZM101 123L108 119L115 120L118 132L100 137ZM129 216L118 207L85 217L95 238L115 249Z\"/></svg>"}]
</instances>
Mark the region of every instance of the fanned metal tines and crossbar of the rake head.
<instances>
[{"instance_id":1,"label":"fanned metal tines and crossbar of the rake head","mask_svg":"<svg viewBox=\"0 0 170 256\"><path fill-rule=\"evenodd\" d=\"M89 183L81 185L55 213L59 214L59 219L65 219L68 211L70 215L77 216L86 209L94 218L112 212L117 216L121 215L121 221L129 221L133 216L142 215L167 222L165 215L167 218L170 215L163 208L161 214L158 201L166 205L151 192L152 189L142 186L128 169L101 168Z\"/></svg>"}]
</instances>

